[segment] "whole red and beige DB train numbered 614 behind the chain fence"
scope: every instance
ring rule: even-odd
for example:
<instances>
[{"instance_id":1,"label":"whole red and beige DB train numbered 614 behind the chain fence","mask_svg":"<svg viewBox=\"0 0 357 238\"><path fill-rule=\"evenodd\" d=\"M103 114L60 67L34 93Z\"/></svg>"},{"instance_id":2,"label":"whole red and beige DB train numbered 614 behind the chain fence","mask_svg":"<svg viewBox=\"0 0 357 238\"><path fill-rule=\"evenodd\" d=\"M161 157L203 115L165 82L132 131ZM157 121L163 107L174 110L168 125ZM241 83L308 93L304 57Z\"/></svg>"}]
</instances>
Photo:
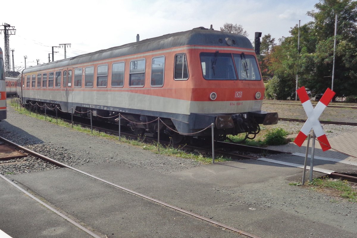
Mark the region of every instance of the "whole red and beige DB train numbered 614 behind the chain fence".
<instances>
[{"instance_id":1,"label":"whole red and beige DB train numbered 614 behind the chain fence","mask_svg":"<svg viewBox=\"0 0 357 238\"><path fill-rule=\"evenodd\" d=\"M27 68L20 80L25 104L91 109L99 120L120 113L137 134L206 136L213 123L222 138L278 119L261 110L265 89L248 38L203 27ZM158 117L159 129L137 124Z\"/></svg>"}]
</instances>

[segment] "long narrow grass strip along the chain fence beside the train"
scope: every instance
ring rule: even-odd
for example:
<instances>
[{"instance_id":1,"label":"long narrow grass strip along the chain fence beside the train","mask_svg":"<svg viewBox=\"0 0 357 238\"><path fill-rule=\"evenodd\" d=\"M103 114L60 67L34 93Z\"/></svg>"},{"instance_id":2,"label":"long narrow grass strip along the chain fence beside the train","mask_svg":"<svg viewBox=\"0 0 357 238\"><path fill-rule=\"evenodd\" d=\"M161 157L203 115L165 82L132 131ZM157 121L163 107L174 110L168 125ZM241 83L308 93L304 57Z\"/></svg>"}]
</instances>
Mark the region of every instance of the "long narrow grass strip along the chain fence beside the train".
<instances>
[{"instance_id":1,"label":"long narrow grass strip along the chain fence beside the train","mask_svg":"<svg viewBox=\"0 0 357 238\"><path fill-rule=\"evenodd\" d=\"M8 105L10 105L10 102L8 102ZM59 126L72 128L71 123L67 123L66 121L64 121L60 118L57 119L58 123L56 123L56 118L50 117L48 115L47 115L47 117L45 117L42 114L36 115L36 113L33 113L33 112L31 112L31 114L30 114L30 111L28 109L21 108L21 111L20 111L20 107L19 107L19 109L17 109L14 105L11 105L11 106L19 114L24 114L29 117L37 118L39 120L46 120L50 123L54 123ZM109 135L109 134L106 134L106 133L98 131L98 130L93 130L93 133L91 133L90 128L85 128L78 124L73 124L73 130L79 131L81 133L86 133L87 135L91 135L91 136L97 136L97 137L101 137L101 138L105 138L105 139L114 140L117 143L119 143L119 136ZM132 146L140 147L144 150L149 150L155 154L176 156L176 157L181 157L184 159L191 159L191 160L199 161L203 164L212 163L212 157L207 157L206 155L202 155L198 152L187 153L186 151L183 150L183 148L174 148L172 146L163 146L160 144L160 151L158 151L157 144L144 143L143 140L141 140L140 138L138 138L136 140L132 140L132 139L127 139L124 136L121 136L120 143L125 143L125 144L130 144ZM231 158L227 158L227 157L223 157L223 156L215 157L215 161L217 161L217 162L229 161L229 160L231 160Z\"/></svg>"}]
</instances>

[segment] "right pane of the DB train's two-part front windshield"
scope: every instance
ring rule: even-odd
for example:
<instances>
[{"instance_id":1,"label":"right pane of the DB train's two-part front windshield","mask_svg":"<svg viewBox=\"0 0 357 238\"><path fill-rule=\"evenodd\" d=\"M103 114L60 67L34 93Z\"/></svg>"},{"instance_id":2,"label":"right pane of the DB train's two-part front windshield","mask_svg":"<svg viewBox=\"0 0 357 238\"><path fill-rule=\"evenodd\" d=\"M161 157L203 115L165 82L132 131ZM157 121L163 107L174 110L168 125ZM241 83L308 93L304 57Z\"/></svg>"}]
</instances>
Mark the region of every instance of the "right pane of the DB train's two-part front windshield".
<instances>
[{"instance_id":1,"label":"right pane of the DB train's two-part front windshield","mask_svg":"<svg viewBox=\"0 0 357 238\"><path fill-rule=\"evenodd\" d=\"M236 63L238 79L240 80L261 80L257 61L253 55L245 53L233 54Z\"/></svg>"}]
</instances>

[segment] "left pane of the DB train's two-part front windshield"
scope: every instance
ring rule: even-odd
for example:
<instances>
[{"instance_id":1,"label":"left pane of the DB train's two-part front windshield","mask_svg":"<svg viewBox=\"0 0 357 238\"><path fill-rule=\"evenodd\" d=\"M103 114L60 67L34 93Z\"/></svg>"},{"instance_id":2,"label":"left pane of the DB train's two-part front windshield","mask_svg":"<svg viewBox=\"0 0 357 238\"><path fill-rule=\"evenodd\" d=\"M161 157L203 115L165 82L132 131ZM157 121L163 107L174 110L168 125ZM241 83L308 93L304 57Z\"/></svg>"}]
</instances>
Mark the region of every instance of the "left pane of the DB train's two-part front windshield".
<instances>
[{"instance_id":1,"label":"left pane of the DB train's two-part front windshield","mask_svg":"<svg viewBox=\"0 0 357 238\"><path fill-rule=\"evenodd\" d=\"M232 54L200 53L203 78L207 80L237 80Z\"/></svg>"}]
</instances>

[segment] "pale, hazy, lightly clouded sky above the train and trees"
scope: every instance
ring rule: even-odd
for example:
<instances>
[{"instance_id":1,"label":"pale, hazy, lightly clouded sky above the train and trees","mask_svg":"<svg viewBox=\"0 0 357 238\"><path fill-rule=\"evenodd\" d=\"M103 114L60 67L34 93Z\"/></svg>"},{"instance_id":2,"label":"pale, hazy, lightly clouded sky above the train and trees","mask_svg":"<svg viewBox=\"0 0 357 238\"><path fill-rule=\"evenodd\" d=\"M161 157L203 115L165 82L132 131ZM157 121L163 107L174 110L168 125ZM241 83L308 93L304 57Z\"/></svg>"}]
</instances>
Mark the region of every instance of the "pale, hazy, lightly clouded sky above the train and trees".
<instances>
[{"instance_id":1,"label":"pale, hazy, lightly clouded sky above the train and trees","mask_svg":"<svg viewBox=\"0 0 357 238\"><path fill-rule=\"evenodd\" d=\"M307 11L318 0L86 0L3 1L0 24L14 26L9 46L15 71L47 63L52 46L66 47L67 58L196 27L220 30L226 22L242 25L253 42L254 33L271 34L278 41L301 20L312 21ZM4 29L4 26L0 26ZM4 31L0 35L4 50ZM54 60L64 48L54 48ZM52 60L52 55L50 55ZM12 52L10 52L12 70Z\"/></svg>"}]
</instances>

